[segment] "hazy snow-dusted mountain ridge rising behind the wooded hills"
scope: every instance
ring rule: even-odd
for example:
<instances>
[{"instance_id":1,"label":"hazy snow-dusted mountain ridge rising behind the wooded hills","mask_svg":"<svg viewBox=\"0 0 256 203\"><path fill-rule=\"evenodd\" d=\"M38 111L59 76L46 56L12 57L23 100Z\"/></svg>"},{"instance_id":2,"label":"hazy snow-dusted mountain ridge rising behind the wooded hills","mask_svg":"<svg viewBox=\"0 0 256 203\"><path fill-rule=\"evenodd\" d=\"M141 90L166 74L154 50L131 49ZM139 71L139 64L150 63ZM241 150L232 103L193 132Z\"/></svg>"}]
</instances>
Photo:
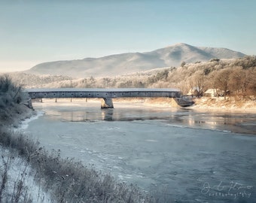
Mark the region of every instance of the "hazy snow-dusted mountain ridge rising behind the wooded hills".
<instances>
[{"instance_id":1,"label":"hazy snow-dusted mountain ridge rising behind the wooded hills","mask_svg":"<svg viewBox=\"0 0 256 203\"><path fill-rule=\"evenodd\" d=\"M147 71L153 68L178 67L181 62L208 61L212 58L236 59L245 56L233 50L175 44L145 53L121 53L101 58L44 62L26 73L66 75L69 77L103 77Z\"/></svg>"}]
</instances>

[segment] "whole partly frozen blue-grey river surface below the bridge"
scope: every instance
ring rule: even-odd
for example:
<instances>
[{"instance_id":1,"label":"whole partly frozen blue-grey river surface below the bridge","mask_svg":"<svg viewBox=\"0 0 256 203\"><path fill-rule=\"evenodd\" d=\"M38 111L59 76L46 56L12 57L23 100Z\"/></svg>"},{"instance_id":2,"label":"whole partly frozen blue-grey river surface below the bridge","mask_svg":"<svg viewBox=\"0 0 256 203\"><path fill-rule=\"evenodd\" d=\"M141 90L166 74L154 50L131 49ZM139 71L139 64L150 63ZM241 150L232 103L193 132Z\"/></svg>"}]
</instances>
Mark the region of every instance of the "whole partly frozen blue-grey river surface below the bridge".
<instances>
[{"instance_id":1,"label":"whole partly frozen blue-grey river surface below the bridge","mask_svg":"<svg viewBox=\"0 0 256 203\"><path fill-rule=\"evenodd\" d=\"M45 102L24 132L163 202L256 202L256 114ZM168 200L166 200L168 199Z\"/></svg>"}]
</instances>

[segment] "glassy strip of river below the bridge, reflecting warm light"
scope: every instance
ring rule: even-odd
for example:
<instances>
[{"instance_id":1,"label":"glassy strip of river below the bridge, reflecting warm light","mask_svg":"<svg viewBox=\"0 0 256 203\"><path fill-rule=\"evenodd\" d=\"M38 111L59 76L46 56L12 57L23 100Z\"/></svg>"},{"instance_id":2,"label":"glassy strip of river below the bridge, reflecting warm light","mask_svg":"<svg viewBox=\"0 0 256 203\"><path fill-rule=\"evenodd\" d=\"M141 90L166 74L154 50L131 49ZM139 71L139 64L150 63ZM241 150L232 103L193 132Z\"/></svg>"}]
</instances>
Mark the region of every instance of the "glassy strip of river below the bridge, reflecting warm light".
<instances>
[{"instance_id":1,"label":"glassy strip of river below the bridge, reflecting warm light","mask_svg":"<svg viewBox=\"0 0 256 203\"><path fill-rule=\"evenodd\" d=\"M97 122L97 121L143 121L163 120L174 126L215 129L236 133L256 133L256 125L251 120L255 114L234 114L225 112L203 112L178 108L149 108L145 106L115 105L114 109L99 109L83 105L60 105L47 107L46 114L53 120L63 122ZM44 109L44 107L43 107Z\"/></svg>"}]
</instances>

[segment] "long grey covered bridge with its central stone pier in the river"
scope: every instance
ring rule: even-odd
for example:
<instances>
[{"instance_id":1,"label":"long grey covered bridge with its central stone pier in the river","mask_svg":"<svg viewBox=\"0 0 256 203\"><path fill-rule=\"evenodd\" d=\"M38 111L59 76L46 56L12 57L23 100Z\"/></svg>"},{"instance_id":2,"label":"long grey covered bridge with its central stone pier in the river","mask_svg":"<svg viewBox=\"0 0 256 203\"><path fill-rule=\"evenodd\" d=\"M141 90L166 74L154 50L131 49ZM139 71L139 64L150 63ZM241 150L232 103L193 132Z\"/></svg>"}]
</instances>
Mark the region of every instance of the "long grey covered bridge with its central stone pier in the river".
<instances>
[{"instance_id":1,"label":"long grey covered bridge with its central stone pier in the river","mask_svg":"<svg viewBox=\"0 0 256 203\"><path fill-rule=\"evenodd\" d=\"M102 108L114 108L112 98L168 97L181 98L179 89L26 89L29 97L35 98L102 98Z\"/></svg>"}]
</instances>

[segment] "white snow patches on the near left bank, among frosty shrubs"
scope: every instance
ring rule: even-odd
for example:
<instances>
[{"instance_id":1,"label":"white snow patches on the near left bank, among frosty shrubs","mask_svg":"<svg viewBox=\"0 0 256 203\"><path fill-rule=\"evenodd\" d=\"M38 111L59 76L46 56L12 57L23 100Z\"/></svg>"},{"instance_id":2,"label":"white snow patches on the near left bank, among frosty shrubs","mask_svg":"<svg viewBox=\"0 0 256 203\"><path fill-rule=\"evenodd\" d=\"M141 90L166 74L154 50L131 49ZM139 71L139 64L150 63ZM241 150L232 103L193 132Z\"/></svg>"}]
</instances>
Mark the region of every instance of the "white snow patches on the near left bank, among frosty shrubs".
<instances>
[{"instance_id":1,"label":"white snow patches on the near left bank, among frosty shrubs","mask_svg":"<svg viewBox=\"0 0 256 203\"><path fill-rule=\"evenodd\" d=\"M32 120L36 120L43 115L44 112L42 111L36 111L35 114L32 114L30 111L23 112L20 117L15 117L14 123L19 124L17 124L17 127L11 127L11 133L23 132L28 128ZM5 174L5 165L7 165L7 182L5 183L5 189L3 190L2 199L0 199L0 201L14 201L14 195L17 195L20 188L22 192L20 198L22 199L25 195L26 198L28 200L31 199L32 202L53 202L50 198L50 194L44 192L40 183L35 180L35 171L33 171L26 159L20 157L15 150L9 150L2 147L1 144L0 156L1 182Z\"/></svg>"}]
</instances>

